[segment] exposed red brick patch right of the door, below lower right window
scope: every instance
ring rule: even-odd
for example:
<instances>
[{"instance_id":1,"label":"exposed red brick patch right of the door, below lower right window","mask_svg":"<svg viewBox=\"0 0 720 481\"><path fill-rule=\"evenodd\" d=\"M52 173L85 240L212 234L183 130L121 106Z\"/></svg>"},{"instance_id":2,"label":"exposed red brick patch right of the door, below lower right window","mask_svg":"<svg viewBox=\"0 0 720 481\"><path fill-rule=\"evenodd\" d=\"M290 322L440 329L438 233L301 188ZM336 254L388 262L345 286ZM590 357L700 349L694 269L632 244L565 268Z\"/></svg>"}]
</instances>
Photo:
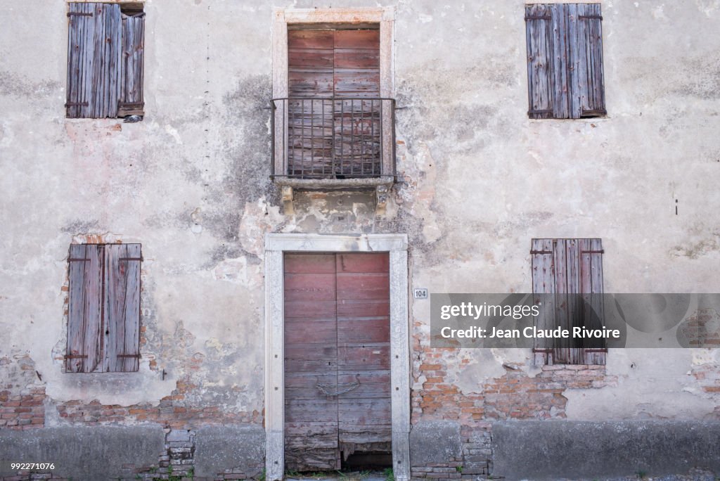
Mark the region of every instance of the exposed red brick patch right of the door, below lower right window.
<instances>
[{"instance_id":1,"label":"exposed red brick patch right of the door, below lower right window","mask_svg":"<svg viewBox=\"0 0 720 481\"><path fill-rule=\"evenodd\" d=\"M477 392L460 392L448 372L448 360L456 349L418 346L422 354L415 359L412 423L420 420L457 421L461 425L462 459L444 464L412 467L413 478L474 479L492 474L492 433L490 421L565 418L567 389L597 389L616 385L604 366L560 364L544 366L529 375L518 366L506 366L502 377L479 384ZM459 368L469 359L459 361ZM456 369L453 367L452 369Z\"/></svg>"}]
</instances>

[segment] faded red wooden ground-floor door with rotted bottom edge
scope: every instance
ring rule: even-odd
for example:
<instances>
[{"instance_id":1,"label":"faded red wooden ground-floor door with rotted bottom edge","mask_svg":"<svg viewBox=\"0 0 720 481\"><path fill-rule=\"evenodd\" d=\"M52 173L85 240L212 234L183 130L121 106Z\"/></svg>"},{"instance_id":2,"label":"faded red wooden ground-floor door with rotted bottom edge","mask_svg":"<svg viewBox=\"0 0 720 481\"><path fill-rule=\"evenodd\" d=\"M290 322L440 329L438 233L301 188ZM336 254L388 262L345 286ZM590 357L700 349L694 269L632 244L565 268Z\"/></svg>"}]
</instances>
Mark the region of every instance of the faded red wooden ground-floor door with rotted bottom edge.
<instances>
[{"instance_id":1,"label":"faded red wooden ground-floor door with rotted bottom edge","mask_svg":"<svg viewBox=\"0 0 720 481\"><path fill-rule=\"evenodd\" d=\"M285 463L390 452L387 253L285 256Z\"/></svg>"}]
</instances>

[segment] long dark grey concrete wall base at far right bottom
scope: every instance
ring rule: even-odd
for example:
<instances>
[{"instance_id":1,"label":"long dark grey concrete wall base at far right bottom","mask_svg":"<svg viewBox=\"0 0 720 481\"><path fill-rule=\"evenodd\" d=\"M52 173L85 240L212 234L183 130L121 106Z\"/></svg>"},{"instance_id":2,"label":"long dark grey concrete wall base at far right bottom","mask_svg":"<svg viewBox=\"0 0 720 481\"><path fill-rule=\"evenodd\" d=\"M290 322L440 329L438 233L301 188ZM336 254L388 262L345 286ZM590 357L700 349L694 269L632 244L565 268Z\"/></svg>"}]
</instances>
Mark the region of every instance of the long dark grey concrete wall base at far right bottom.
<instances>
[{"instance_id":1,"label":"long dark grey concrete wall base at far right bottom","mask_svg":"<svg viewBox=\"0 0 720 481\"><path fill-rule=\"evenodd\" d=\"M720 423L493 423L492 475L505 480L720 473Z\"/></svg>"}]
</instances>

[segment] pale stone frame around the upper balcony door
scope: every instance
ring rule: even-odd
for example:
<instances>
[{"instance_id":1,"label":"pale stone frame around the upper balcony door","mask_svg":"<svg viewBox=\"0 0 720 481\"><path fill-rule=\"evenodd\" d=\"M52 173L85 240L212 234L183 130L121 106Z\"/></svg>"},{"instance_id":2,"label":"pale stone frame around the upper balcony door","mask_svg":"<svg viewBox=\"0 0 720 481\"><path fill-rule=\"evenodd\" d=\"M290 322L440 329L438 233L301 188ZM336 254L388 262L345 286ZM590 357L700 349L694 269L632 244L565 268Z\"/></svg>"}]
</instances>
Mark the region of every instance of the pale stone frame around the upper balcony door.
<instances>
[{"instance_id":1,"label":"pale stone frame around the upper balcony door","mask_svg":"<svg viewBox=\"0 0 720 481\"><path fill-rule=\"evenodd\" d=\"M287 26L288 24L325 24L325 23L377 23L380 25L380 96L395 96L395 50L393 35L395 30L395 6L355 7L355 8L321 8L292 9L276 8L273 12L272 27L272 96L274 99L287 97ZM283 124L287 123L285 112L278 107L276 118L284 119L275 122L275 148L279 152L287 145ZM390 126L383 127L383 151L392 152L392 135ZM275 171L283 169L283 156L276 156ZM390 172L392 158L389 155L382 159L383 171Z\"/></svg>"}]
</instances>

